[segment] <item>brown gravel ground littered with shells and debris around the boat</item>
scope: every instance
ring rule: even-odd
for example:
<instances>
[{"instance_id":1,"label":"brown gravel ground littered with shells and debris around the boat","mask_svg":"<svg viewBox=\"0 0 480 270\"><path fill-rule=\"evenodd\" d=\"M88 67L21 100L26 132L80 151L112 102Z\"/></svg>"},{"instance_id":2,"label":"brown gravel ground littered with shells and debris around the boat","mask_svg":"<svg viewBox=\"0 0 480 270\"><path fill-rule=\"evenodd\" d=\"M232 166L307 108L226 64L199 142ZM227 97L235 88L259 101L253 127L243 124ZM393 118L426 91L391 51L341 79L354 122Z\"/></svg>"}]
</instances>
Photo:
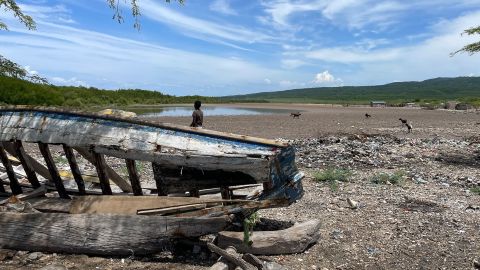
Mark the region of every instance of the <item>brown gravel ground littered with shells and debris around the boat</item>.
<instances>
[{"instance_id":1,"label":"brown gravel ground littered with shells and debris around the boat","mask_svg":"<svg viewBox=\"0 0 480 270\"><path fill-rule=\"evenodd\" d=\"M288 114L205 119L209 129L282 138L297 149L297 164L307 175L305 196L288 208L261 210L260 216L287 223L320 219L321 239L302 254L265 259L287 269L473 269L473 261L480 259L480 195L471 191L480 187L478 114L287 107L302 111L300 119ZM373 117L365 119L366 112ZM406 133L399 117L413 122L413 133ZM190 119L158 121L188 124ZM109 163L122 171L118 161ZM326 168L351 175L345 182L315 181ZM148 182L148 165L142 171ZM398 173L402 179L372 183L381 173ZM358 207L352 209L347 199ZM208 269L214 262L206 249L188 245L147 258L0 250L1 269L54 264L57 269Z\"/></svg>"}]
</instances>

